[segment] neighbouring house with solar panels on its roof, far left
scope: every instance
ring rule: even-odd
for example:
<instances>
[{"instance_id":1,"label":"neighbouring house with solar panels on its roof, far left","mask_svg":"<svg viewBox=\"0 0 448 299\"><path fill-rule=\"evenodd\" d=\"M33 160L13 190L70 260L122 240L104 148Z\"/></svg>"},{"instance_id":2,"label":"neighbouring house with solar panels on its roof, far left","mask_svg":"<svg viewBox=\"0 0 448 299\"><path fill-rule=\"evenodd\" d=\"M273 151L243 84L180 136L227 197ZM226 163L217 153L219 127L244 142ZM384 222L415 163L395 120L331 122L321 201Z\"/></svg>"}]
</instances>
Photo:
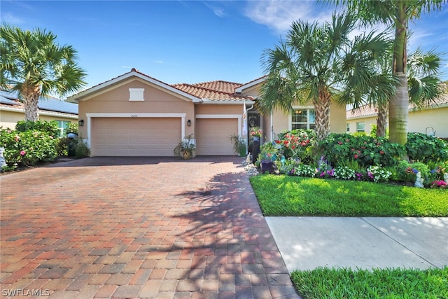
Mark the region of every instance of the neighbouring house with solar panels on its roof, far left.
<instances>
[{"instance_id":1,"label":"neighbouring house with solar panels on its roof, far left","mask_svg":"<svg viewBox=\"0 0 448 299\"><path fill-rule=\"evenodd\" d=\"M78 104L41 97L38 100L38 114L40 120L56 120L60 136L64 136L66 124L78 122ZM0 126L14 129L19 120L25 120L25 106L18 100L17 92L0 90Z\"/></svg>"}]
</instances>

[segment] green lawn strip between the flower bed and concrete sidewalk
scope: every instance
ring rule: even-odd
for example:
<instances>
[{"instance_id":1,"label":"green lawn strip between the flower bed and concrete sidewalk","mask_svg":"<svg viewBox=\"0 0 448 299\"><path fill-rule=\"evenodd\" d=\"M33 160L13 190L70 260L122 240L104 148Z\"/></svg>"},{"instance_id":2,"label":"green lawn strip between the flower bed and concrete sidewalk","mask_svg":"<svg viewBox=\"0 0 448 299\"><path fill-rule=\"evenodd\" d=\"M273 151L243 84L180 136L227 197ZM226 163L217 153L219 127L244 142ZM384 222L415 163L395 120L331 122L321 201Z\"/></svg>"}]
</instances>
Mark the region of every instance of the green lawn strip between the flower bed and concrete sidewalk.
<instances>
[{"instance_id":1,"label":"green lawn strip between the flower bed and concrete sidewalk","mask_svg":"<svg viewBox=\"0 0 448 299\"><path fill-rule=\"evenodd\" d=\"M273 174L250 180L265 216L448 216L446 189Z\"/></svg>"}]
</instances>

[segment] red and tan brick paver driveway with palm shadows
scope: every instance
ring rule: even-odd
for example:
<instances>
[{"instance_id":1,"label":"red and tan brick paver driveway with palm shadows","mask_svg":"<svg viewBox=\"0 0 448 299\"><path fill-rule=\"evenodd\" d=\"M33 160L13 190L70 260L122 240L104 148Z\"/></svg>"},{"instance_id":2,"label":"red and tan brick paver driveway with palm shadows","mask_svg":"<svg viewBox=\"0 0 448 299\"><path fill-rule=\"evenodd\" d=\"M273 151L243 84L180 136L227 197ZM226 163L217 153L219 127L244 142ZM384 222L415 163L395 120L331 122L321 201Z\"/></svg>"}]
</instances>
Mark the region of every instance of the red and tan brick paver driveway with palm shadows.
<instances>
[{"instance_id":1,"label":"red and tan brick paver driveway with palm shadows","mask_svg":"<svg viewBox=\"0 0 448 299\"><path fill-rule=\"evenodd\" d=\"M86 158L0 183L0 296L298 297L241 158Z\"/></svg>"}]
</instances>

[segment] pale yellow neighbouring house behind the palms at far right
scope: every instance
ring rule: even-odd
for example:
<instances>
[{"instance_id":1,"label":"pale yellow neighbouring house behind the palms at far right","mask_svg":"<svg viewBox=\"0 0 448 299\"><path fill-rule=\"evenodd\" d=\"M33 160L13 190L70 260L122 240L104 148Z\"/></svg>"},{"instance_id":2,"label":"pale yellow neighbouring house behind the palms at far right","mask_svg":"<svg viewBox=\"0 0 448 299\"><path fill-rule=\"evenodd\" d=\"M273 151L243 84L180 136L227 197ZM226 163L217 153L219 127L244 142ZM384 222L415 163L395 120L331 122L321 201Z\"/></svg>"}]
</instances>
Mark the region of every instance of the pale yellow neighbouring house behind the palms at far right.
<instances>
[{"instance_id":1,"label":"pale yellow neighbouring house behind the palms at far right","mask_svg":"<svg viewBox=\"0 0 448 299\"><path fill-rule=\"evenodd\" d=\"M346 132L370 133L372 125L377 125L377 109L362 106L360 109L346 111ZM448 138L448 94L435 100L435 103L418 109L409 105L407 119L408 132L420 132L437 137Z\"/></svg>"}]
</instances>

